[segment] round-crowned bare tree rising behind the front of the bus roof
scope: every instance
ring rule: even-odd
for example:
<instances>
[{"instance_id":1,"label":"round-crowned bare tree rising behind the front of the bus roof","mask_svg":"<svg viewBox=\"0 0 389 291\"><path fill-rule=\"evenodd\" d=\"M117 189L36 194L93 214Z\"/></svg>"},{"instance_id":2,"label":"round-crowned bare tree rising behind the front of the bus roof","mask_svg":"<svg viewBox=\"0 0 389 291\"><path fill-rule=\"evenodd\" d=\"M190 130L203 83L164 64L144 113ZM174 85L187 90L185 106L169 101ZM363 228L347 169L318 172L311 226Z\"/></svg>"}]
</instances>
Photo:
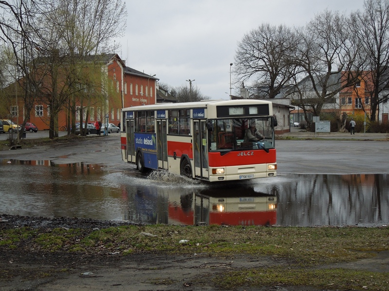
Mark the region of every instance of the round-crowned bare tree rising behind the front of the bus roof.
<instances>
[{"instance_id":1,"label":"round-crowned bare tree rising behind the front of the bus roof","mask_svg":"<svg viewBox=\"0 0 389 291\"><path fill-rule=\"evenodd\" d=\"M296 73L296 48L297 38L291 29L262 24L238 44L234 73L239 81L257 84L254 94L274 98Z\"/></svg>"}]
</instances>

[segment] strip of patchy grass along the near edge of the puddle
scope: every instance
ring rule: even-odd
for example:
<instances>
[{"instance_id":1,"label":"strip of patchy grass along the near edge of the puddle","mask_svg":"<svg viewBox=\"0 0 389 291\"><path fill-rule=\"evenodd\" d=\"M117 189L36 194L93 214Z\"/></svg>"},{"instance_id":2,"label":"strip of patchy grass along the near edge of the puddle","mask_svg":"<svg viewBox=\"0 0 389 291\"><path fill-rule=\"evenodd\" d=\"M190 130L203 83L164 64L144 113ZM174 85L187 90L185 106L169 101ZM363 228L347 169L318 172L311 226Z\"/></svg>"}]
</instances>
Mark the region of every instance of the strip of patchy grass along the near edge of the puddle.
<instances>
[{"instance_id":1,"label":"strip of patchy grass along the near edge of the puddle","mask_svg":"<svg viewBox=\"0 0 389 291\"><path fill-rule=\"evenodd\" d=\"M142 234L143 233L143 234ZM149 233L154 236L144 235ZM291 259L297 264L329 264L374 256L389 249L389 228L265 226L119 226L95 231L54 228L0 230L0 250L18 247L66 252L117 251L175 254L254 254ZM179 243L188 240L186 243Z\"/></svg>"}]
</instances>

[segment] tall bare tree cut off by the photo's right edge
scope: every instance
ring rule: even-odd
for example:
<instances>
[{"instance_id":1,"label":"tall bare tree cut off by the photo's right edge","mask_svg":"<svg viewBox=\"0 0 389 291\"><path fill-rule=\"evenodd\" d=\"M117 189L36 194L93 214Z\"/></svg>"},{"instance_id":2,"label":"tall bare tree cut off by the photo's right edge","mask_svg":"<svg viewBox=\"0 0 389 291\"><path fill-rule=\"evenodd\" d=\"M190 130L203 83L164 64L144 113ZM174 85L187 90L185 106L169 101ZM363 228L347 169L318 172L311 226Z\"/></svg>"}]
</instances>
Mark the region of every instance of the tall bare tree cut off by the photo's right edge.
<instances>
[{"instance_id":1,"label":"tall bare tree cut off by the photo's right edge","mask_svg":"<svg viewBox=\"0 0 389 291\"><path fill-rule=\"evenodd\" d=\"M363 46L366 93L371 99L371 121L377 118L378 105L388 100L383 94L389 84L389 1L365 0L364 11L351 15L356 40Z\"/></svg>"}]
</instances>

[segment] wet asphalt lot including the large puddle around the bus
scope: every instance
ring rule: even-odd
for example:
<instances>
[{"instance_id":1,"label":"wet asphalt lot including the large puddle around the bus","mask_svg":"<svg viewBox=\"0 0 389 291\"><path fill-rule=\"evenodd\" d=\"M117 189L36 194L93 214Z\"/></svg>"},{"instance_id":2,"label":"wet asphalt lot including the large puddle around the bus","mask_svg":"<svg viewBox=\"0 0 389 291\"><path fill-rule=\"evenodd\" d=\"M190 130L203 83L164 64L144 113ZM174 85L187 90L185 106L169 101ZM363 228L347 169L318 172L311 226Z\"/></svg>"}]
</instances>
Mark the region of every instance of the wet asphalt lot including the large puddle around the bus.
<instances>
[{"instance_id":1,"label":"wet asphalt lot including the large puddle around the bus","mask_svg":"<svg viewBox=\"0 0 389 291\"><path fill-rule=\"evenodd\" d=\"M117 136L0 152L0 214L181 225L389 223L388 143L276 141L278 176L199 183L122 162Z\"/></svg>"}]
</instances>

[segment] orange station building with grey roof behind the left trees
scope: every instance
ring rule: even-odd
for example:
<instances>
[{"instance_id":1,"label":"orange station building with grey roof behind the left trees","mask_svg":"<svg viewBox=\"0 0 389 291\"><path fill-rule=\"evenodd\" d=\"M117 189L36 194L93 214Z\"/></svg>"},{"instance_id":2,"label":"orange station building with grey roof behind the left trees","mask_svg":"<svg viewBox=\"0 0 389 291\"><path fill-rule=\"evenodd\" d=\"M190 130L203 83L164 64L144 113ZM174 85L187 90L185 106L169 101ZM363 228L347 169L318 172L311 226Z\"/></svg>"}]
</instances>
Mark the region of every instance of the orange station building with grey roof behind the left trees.
<instances>
[{"instance_id":1,"label":"orange station building with grey roof behind the left trees","mask_svg":"<svg viewBox=\"0 0 389 291\"><path fill-rule=\"evenodd\" d=\"M105 90L106 98L96 98L95 101L88 104L83 103L84 122L86 117L86 108L88 107L89 118L88 122L95 123L100 120L102 122L118 124L120 122L121 109L124 107L148 105L156 103L156 83L159 79L144 74L138 70L125 66L125 62L120 59L117 54L106 54L85 57L86 64L92 66L96 63L101 65L102 82L106 80L110 90ZM11 85L10 87L12 87ZM101 86L104 88L104 86ZM102 91L104 89L101 89ZM93 94L88 92L88 88L83 90L84 94ZM19 93L20 94L20 93ZM4 119L11 119L13 122L22 124L26 115L25 107L22 98L17 98L15 94L15 102L12 101L9 113L6 116L0 116ZM18 99L18 101L16 101ZM17 104L18 103L18 104ZM80 121L81 101L76 100L76 116L75 122ZM30 113L30 118L27 122L34 123L39 130L49 129L50 124L50 108L45 102L45 97L38 97L35 101L34 109ZM67 109L64 109L58 114L58 129L65 130L67 125Z\"/></svg>"}]
</instances>

